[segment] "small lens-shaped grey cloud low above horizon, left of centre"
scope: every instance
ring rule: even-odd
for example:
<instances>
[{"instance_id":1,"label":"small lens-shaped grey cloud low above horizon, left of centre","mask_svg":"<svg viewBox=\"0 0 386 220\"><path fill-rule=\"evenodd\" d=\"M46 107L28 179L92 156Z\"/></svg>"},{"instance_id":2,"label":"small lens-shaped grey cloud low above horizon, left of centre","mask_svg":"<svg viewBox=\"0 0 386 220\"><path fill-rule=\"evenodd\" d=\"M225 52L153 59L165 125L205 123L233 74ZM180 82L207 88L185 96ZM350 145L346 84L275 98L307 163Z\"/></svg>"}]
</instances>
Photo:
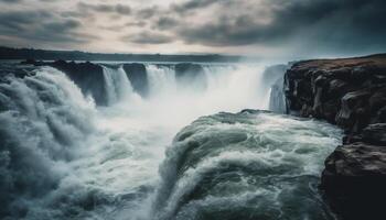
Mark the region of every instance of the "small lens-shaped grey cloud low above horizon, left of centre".
<instances>
[{"instance_id":1,"label":"small lens-shaped grey cloud low above horizon, left of centre","mask_svg":"<svg viewBox=\"0 0 386 220\"><path fill-rule=\"evenodd\" d=\"M149 31L126 35L121 40L124 42L131 42L136 44L165 44L173 42L171 36Z\"/></svg>"}]
</instances>

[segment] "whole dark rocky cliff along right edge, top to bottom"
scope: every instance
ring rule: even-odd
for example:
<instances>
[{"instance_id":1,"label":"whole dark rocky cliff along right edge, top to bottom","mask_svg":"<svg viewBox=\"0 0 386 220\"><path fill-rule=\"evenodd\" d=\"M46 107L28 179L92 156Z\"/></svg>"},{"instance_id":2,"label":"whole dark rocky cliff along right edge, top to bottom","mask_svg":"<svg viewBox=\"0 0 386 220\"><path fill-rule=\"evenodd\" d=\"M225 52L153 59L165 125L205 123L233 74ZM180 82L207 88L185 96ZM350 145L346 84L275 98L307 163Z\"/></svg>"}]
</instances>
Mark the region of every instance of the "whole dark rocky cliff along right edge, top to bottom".
<instances>
[{"instance_id":1,"label":"whole dark rocky cliff along right edge, top to bottom","mask_svg":"<svg viewBox=\"0 0 386 220\"><path fill-rule=\"evenodd\" d=\"M287 112L345 131L326 158L321 188L342 219L384 219L386 54L298 62L285 75Z\"/></svg>"}]
</instances>

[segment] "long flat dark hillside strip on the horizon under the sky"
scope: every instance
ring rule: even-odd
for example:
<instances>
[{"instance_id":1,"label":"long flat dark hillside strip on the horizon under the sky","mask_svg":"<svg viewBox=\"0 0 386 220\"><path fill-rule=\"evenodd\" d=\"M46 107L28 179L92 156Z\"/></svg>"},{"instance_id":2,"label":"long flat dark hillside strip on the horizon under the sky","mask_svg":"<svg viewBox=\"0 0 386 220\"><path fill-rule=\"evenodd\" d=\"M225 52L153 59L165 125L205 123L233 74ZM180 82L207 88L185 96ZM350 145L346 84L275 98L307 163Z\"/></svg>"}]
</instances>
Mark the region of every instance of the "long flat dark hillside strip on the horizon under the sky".
<instances>
[{"instance_id":1,"label":"long flat dark hillside strip on the horizon under the sky","mask_svg":"<svg viewBox=\"0 0 386 220\"><path fill-rule=\"evenodd\" d=\"M120 62L238 62L242 56L224 55L160 55L160 54L99 54L79 51L44 51L0 46L0 59L65 59L65 61L120 61Z\"/></svg>"}]
</instances>

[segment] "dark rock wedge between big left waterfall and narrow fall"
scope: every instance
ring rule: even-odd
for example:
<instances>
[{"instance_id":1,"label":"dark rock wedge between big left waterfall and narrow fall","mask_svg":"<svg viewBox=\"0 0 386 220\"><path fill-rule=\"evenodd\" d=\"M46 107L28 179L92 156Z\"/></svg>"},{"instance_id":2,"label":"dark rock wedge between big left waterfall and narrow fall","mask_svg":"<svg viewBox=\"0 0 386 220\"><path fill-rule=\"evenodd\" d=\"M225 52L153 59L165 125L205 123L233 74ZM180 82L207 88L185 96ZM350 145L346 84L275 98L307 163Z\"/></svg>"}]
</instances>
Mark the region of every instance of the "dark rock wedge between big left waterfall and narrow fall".
<instances>
[{"instance_id":1,"label":"dark rock wedge between big left waterfall and narrow fall","mask_svg":"<svg viewBox=\"0 0 386 220\"><path fill-rule=\"evenodd\" d=\"M86 96L90 95L96 105L107 106L107 96L105 87L105 78L103 67L89 62L75 63L75 62L36 62L25 61L21 64L29 64L34 66L52 66L71 78Z\"/></svg>"}]
</instances>

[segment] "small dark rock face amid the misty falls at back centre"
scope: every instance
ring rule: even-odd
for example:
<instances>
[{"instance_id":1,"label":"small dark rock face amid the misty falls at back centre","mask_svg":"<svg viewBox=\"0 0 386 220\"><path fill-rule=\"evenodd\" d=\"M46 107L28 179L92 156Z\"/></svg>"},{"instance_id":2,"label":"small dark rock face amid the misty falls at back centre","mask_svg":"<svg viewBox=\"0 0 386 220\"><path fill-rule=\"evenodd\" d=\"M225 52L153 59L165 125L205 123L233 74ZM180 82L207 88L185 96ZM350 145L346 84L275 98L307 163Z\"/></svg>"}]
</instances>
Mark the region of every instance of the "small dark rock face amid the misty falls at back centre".
<instances>
[{"instance_id":1,"label":"small dark rock face amid the misty falls at back centre","mask_svg":"<svg viewBox=\"0 0 386 220\"><path fill-rule=\"evenodd\" d=\"M194 88L206 88L206 76L204 68L199 64L180 63L174 66L175 78L182 86Z\"/></svg>"}]
</instances>

